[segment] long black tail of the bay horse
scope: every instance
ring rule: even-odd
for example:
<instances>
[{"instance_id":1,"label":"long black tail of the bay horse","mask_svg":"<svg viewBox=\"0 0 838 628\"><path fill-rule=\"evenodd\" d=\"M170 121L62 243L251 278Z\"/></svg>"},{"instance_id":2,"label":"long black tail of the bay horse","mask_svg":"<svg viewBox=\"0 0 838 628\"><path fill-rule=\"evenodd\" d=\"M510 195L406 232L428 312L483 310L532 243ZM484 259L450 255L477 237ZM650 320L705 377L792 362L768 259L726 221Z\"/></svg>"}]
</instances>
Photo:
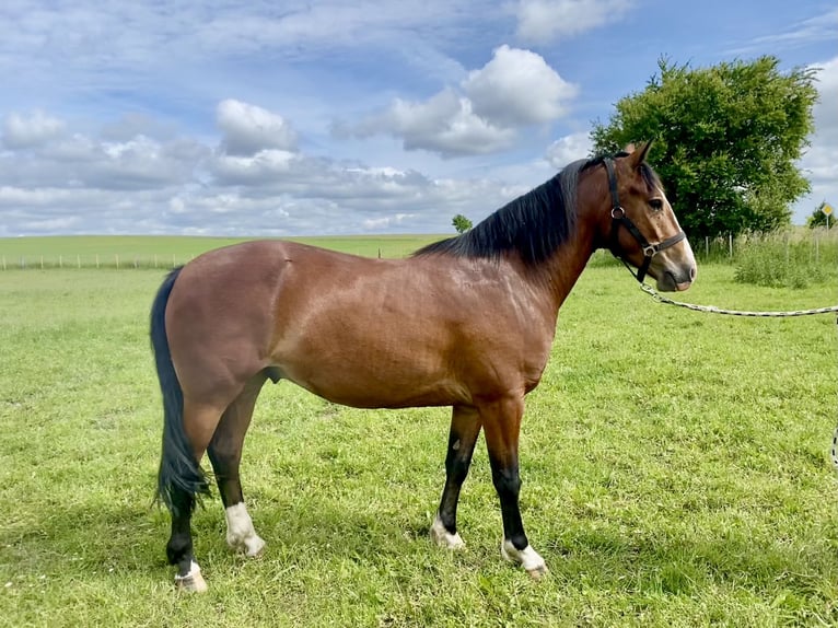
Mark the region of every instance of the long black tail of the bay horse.
<instances>
[{"instance_id":1,"label":"long black tail of the bay horse","mask_svg":"<svg viewBox=\"0 0 838 628\"><path fill-rule=\"evenodd\" d=\"M173 513L176 505L172 499L175 489L188 495L209 495L207 476L193 454L189 439L184 431L184 394L177 381L172 353L166 337L166 304L172 288L183 267L168 274L151 306L151 347L158 368L160 391L163 393L163 453L158 474L158 498ZM183 502L183 500L177 500ZM189 500L195 503L194 500Z\"/></svg>"}]
</instances>

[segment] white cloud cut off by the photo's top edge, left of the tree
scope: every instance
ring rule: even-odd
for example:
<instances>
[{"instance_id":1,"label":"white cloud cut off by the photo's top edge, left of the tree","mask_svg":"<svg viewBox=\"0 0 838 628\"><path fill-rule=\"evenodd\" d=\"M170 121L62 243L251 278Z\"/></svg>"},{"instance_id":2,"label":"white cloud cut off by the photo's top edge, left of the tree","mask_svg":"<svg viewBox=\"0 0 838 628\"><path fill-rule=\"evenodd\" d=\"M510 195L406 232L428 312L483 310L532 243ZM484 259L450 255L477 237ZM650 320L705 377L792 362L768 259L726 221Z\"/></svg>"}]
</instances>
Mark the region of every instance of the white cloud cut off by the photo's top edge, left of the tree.
<instances>
[{"instance_id":1,"label":"white cloud cut off by the photo's top edge, left of the tree","mask_svg":"<svg viewBox=\"0 0 838 628\"><path fill-rule=\"evenodd\" d=\"M519 0L517 34L544 44L567 39L622 18L631 0Z\"/></svg>"}]
</instances>

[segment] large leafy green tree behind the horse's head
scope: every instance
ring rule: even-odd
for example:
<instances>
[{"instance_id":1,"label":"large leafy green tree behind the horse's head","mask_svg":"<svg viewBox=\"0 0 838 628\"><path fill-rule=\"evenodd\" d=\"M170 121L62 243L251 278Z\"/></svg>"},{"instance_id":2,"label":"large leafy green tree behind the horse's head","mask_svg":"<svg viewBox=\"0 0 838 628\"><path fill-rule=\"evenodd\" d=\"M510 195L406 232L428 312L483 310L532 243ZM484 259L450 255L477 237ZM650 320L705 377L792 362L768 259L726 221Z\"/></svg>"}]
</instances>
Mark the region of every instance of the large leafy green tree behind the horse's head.
<instances>
[{"instance_id":1,"label":"large leafy green tree behind the horse's head","mask_svg":"<svg viewBox=\"0 0 838 628\"><path fill-rule=\"evenodd\" d=\"M594 123L597 153L653 139L650 162L691 236L772 231L810 190L795 166L814 130L815 70L775 57L690 69L657 62L645 89Z\"/></svg>"}]
</instances>

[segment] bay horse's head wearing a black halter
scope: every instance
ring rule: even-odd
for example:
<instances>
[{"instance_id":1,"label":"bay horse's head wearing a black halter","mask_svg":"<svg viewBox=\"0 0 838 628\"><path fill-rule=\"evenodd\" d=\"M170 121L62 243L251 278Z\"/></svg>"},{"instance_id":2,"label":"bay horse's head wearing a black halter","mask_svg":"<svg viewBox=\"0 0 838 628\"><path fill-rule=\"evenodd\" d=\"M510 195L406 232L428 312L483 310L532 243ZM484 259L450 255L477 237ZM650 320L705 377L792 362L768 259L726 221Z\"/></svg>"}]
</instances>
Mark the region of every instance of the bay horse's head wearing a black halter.
<instances>
[{"instance_id":1,"label":"bay horse's head wearing a black halter","mask_svg":"<svg viewBox=\"0 0 838 628\"><path fill-rule=\"evenodd\" d=\"M657 289L686 290L696 279L696 258L655 172L645 163L651 142L603 160L610 219L607 246L614 255L657 281Z\"/></svg>"}]
</instances>

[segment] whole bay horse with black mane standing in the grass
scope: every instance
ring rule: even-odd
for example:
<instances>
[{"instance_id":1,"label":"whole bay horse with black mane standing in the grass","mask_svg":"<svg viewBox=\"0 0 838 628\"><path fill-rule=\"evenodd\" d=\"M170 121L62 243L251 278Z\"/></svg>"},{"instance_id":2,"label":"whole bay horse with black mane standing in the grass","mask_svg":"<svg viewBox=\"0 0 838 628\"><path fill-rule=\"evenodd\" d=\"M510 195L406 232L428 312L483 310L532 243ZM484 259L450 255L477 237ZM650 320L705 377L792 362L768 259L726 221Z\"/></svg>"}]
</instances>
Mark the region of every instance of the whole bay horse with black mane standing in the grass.
<instances>
[{"instance_id":1,"label":"whole bay horse with black mane standing in the grass","mask_svg":"<svg viewBox=\"0 0 838 628\"><path fill-rule=\"evenodd\" d=\"M452 406L431 538L464 545L457 501L482 429L501 555L544 573L519 509L517 449L524 396L542 377L559 307L597 248L662 291L686 290L696 277L648 150L573 162L470 231L406 259L254 241L173 270L152 305L151 341L164 406L158 491L172 515L166 555L177 585L207 588L190 530L196 498L209 492L205 452L228 544L248 556L263 550L238 465L267 380L358 408Z\"/></svg>"}]
</instances>

